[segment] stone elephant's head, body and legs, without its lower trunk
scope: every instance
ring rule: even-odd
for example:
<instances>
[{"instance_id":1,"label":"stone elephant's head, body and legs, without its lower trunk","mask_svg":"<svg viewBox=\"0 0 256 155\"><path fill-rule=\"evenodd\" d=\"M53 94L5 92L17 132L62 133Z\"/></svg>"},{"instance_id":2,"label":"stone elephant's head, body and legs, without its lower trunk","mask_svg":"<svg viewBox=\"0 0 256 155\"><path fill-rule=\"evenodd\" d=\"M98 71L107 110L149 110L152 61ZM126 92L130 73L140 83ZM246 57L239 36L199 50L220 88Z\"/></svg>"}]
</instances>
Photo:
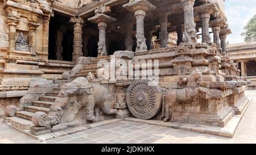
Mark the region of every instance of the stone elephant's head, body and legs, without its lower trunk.
<instances>
[{"instance_id":1,"label":"stone elephant's head, body and legs, without its lower trunk","mask_svg":"<svg viewBox=\"0 0 256 155\"><path fill-rule=\"evenodd\" d=\"M110 93L104 86L91 84L85 77L79 77L70 83L66 83L61 87L59 97L63 100L67 100L69 97L77 97L81 107L86 108L86 120L90 122L96 122L94 116L94 107L99 107L105 114L117 114L117 110L112 107L110 100ZM60 98L60 100L62 100ZM67 105L67 102L59 102L59 104L53 104L50 111L59 111ZM79 110L72 112L77 114Z\"/></svg>"}]
</instances>

